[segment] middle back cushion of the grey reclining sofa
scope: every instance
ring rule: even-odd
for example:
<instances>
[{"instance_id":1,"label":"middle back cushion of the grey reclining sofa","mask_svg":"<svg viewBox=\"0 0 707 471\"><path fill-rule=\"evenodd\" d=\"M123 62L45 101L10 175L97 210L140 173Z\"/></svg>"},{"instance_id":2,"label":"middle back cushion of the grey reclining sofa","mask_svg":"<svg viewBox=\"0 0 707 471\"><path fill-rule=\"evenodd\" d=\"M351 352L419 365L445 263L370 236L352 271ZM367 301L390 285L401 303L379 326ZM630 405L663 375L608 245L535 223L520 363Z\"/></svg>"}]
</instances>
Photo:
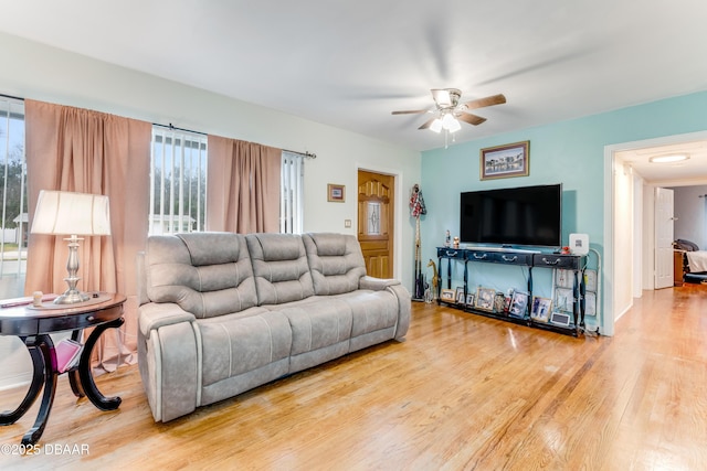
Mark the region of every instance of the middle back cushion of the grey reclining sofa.
<instances>
[{"instance_id":1,"label":"middle back cushion of the grey reclining sofa","mask_svg":"<svg viewBox=\"0 0 707 471\"><path fill-rule=\"evenodd\" d=\"M298 301L314 296L302 236L249 234L258 306Z\"/></svg>"}]
</instances>

